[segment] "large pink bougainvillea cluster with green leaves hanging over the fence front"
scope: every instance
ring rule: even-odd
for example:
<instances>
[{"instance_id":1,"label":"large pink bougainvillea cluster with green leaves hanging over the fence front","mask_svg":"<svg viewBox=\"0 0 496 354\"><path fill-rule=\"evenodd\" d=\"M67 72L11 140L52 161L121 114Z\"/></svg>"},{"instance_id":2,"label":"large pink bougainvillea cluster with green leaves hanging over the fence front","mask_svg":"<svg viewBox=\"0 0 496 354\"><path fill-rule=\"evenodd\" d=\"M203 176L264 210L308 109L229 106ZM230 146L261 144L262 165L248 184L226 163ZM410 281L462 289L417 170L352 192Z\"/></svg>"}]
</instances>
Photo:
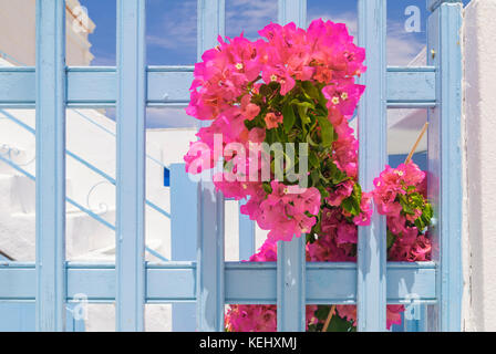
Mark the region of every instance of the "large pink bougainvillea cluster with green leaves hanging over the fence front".
<instances>
[{"instance_id":1,"label":"large pink bougainvillea cluster with green leaves hanging over the fence front","mask_svg":"<svg viewBox=\"0 0 496 354\"><path fill-rule=\"evenodd\" d=\"M320 228L328 202L352 223L364 225L369 199L356 184L358 142L349 126L364 86L354 77L365 71L364 51L353 44L345 25L316 20L308 30L294 23L271 23L249 41L219 38L219 44L195 65L192 100L186 112L211 121L199 129L185 156L197 174L224 160L214 181L226 197L248 199L241 212L269 230L272 240L291 240ZM216 146L215 135L221 136ZM300 156L288 163L307 168L307 185L278 178L275 158L260 152L240 154L252 144L308 144L307 166ZM236 154L226 155L232 144ZM262 178L262 168L270 173ZM240 178L242 177L242 178ZM298 186L300 185L300 187ZM343 204L343 206L342 206Z\"/></svg>"}]
</instances>

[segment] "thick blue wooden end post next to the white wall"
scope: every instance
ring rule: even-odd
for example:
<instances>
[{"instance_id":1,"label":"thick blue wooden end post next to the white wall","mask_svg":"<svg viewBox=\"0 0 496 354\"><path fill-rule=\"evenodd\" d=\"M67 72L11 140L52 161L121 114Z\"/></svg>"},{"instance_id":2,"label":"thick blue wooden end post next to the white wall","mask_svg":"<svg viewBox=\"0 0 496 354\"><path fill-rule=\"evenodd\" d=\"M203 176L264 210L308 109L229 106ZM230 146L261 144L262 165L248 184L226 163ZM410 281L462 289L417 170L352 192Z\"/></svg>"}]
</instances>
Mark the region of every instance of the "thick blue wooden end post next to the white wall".
<instances>
[{"instance_id":1,"label":"thick blue wooden end post next to the white wall","mask_svg":"<svg viewBox=\"0 0 496 354\"><path fill-rule=\"evenodd\" d=\"M431 236L440 263L440 304L430 312L430 330L441 331L462 325L462 8L443 3L427 20L427 61L437 69L437 106L428 112L428 197L438 220Z\"/></svg>"}]
</instances>

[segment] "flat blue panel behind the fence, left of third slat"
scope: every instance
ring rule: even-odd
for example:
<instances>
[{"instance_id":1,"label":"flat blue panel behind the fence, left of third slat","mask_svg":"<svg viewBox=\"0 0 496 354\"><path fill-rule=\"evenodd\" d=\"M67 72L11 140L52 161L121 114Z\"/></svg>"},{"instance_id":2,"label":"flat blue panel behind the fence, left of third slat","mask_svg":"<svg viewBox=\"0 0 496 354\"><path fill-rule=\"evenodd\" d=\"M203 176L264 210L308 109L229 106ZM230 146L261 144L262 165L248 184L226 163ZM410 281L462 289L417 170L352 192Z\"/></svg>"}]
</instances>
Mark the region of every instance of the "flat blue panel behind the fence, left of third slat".
<instances>
[{"instance_id":1,"label":"flat blue panel behind the fence, left of third slat","mask_svg":"<svg viewBox=\"0 0 496 354\"><path fill-rule=\"evenodd\" d=\"M198 236L199 184L186 173L185 164L170 165L170 252L173 261L196 259ZM168 283L169 287L177 284ZM194 303L173 304L173 331L187 332L196 329L196 305Z\"/></svg>"}]
</instances>

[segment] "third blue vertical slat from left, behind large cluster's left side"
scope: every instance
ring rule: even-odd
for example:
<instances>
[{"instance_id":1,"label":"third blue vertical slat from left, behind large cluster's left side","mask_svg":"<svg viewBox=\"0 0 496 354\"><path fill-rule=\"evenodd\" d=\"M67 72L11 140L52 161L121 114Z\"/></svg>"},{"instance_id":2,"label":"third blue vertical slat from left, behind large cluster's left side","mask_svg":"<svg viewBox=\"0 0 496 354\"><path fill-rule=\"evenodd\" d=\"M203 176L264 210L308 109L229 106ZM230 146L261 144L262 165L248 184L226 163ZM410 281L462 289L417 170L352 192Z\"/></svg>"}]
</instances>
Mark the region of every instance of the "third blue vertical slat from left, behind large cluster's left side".
<instances>
[{"instance_id":1,"label":"third blue vertical slat from left, behind large cluster's left side","mask_svg":"<svg viewBox=\"0 0 496 354\"><path fill-rule=\"evenodd\" d=\"M198 0L198 60L224 35L225 1ZM208 123L207 123L208 124ZM197 242L197 330L224 331L224 197L202 180Z\"/></svg>"}]
</instances>

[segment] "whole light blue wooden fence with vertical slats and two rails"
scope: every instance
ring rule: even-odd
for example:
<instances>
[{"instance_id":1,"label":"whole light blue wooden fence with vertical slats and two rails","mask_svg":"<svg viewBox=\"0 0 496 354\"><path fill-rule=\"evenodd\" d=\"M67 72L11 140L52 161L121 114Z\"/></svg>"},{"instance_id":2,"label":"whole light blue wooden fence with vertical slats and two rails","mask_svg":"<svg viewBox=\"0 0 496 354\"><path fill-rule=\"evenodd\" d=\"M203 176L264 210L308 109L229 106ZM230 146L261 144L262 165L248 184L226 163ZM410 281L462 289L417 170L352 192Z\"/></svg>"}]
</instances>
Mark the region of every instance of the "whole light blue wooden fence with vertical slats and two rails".
<instances>
[{"instance_id":1,"label":"whole light blue wooden fence with vertical slats and two rails","mask_svg":"<svg viewBox=\"0 0 496 354\"><path fill-rule=\"evenodd\" d=\"M37 108L37 259L0 261L0 317L29 302L38 331L71 330L66 306L83 293L90 302L115 302L118 331L144 330L146 303L175 303L173 329L194 330L196 319L200 331L223 331L229 303L277 304L279 331L304 331L306 304L355 303L359 330L383 331L386 303L414 299L423 315L407 329L459 331L462 4L427 0L428 65L388 67L386 1L358 1L369 67L361 77L368 90L359 107L360 181L371 189L386 163L386 108L428 108L428 190L437 219L432 262L388 263L385 221L376 215L360 228L358 263L306 263L301 239L280 243L277 263L225 262L224 198L211 183L189 181L179 165L170 169L173 260L149 263L145 108L187 104L193 67L146 66L145 2L117 0L116 67L66 67L64 1L37 0L37 66L0 69L0 107ZM280 23L306 25L306 0L278 6ZM225 1L198 0L199 54L224 25ZM116 262L68 262L65 107L110 106L117 108ZM242 217L239 225L240 257L247 258L255 227Z\"/></svg>"}]
</instances>

